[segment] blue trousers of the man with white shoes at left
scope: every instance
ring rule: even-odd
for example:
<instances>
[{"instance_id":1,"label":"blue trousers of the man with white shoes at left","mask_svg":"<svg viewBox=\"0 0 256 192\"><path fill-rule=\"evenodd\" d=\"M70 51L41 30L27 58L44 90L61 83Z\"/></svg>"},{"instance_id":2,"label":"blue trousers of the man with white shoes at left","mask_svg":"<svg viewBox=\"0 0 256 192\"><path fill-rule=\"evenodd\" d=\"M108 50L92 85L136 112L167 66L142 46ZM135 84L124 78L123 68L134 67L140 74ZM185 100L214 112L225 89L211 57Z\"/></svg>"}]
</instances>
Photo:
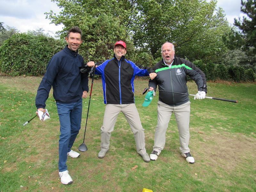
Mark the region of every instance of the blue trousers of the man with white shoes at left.
<instances>
[{"instance_id":1,"label":"blue trousers of the man with white shoes at left","mask_svg":"<svg viewBox=\"0 0 256 192\"><path fill-rule=\"evenodd\" d=\"M59 171L67 170L67 153L81 128L82 98L75 103L56 102L60 119Z\"/></svg>"}]
</instances>

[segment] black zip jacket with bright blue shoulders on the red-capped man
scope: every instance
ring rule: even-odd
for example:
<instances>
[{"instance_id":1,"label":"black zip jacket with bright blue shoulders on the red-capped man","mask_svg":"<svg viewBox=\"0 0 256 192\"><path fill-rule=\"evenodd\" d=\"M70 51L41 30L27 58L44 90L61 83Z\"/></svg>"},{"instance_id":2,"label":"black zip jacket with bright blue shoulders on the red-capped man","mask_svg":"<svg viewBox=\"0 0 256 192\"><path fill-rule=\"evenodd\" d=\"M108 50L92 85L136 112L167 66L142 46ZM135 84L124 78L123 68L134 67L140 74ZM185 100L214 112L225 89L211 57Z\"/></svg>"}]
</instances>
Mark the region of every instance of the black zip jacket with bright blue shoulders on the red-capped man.
<instances>
[{"instance_id":1,"label":"black zip jacket with bright blue shoulders on the red-capped man","mask_svg":"<svg viewBox=\"0 0 256 192\"><path fill-rule=\"evenodd\" d=\"M136 65L124 56L118 61L116 56L106 60L95 69L101 75L105 104L130 104L134 99L135 76L148 76L152 68Z\"/></svg>"}]
</instances>

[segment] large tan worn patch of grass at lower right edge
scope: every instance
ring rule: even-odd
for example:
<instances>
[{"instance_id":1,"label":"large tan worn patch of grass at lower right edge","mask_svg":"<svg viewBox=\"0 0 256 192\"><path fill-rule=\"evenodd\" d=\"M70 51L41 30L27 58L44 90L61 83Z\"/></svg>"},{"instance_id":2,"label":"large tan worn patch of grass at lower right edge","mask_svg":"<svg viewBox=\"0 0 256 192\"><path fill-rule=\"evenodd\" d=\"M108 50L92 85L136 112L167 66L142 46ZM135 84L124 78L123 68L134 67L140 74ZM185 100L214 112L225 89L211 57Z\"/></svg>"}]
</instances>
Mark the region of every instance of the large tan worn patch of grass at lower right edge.
<instances>
[{"instance_id":1,"label":"large tan worn patch of grass at lower right edge","mask_svg":"<svg viewBox=\"0 0 256 192\"><path fill-rule=\"evenodd\" d=\"M216 167L216 172L219 171L219 167L231 172L244 164L244 161L253 162L255 158L255 138L225 132L201 136L204 141L198 143L200 151L197 152L203 155L198 155L196 160L202 160L209 166Z\"/></svg>"}]
</instances>

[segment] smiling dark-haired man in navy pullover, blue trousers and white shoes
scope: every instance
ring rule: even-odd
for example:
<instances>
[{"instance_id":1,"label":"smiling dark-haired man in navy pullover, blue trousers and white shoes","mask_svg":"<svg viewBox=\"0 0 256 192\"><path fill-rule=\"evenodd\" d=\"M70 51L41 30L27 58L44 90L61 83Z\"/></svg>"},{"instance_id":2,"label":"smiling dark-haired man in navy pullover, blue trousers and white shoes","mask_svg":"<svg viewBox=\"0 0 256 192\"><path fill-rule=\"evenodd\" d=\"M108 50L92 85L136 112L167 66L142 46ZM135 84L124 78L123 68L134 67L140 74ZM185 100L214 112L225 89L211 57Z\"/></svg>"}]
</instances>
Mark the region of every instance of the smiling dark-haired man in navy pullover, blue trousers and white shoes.
<instances>
[{"instance_id":1,"label":"smiling dark-haired man in navy pullover, blue trousers and white shoes","mask_svg":"<svg viewBox=\"0 0 256 192\"><path fill-rule=\"evenodd\" d=\"M87 97L88 73L81 73L79 69L84 66L84 60L77 51L83 42L81 29L70 28L66 41L68 45L56 53L46 67L37 90L36 108L45 112L45 102L52 87L60 120L59 176L61 183L70 184L73 180L68 174L66 162L67 156L76 158L80 155L71 147L81 128L82 98ZM89 67L92 66L89 64Z\"/></svg>"}]
</instances>

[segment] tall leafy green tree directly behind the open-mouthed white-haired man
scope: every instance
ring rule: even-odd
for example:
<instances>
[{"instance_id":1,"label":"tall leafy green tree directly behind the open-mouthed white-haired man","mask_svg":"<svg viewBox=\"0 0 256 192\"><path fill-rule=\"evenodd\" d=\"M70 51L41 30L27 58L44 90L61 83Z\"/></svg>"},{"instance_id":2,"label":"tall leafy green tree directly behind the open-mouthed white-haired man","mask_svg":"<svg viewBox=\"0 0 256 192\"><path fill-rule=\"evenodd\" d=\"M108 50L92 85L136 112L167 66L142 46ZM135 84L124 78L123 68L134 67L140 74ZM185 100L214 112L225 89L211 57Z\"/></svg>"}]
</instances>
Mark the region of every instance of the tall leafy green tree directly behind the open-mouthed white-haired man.
<instances>
[{"instance_id":1,"label":"tall leafy green tree directly behind the open-mouthed white-haired man","mask_svg":"<svg viewBox=\"0 0 256 192\"><path fill-rule=\"evenodd\" d=\"M215 60L226 51L221 38L230 27L223 10L216 10L216 0L138 0L137 3L140 14L132 27L134 44L154 58L161 56L160 47L165 41L173 42L176 54L190 60Z\"/></svg>"}]
</instances>

